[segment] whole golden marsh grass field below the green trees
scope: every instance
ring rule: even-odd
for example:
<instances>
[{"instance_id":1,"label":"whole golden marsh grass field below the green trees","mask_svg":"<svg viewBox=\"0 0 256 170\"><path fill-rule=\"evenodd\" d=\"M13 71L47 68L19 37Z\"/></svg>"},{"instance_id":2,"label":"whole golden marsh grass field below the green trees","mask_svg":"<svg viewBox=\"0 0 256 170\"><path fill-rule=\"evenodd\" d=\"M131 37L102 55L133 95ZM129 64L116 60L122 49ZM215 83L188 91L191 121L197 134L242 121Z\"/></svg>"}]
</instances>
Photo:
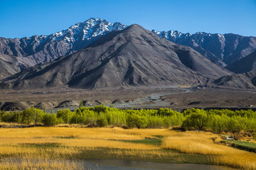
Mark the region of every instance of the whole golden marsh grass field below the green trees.
<instances>
[{"instance_id":1,"label":"whole golden marsh grass field below the green trees","mask_svg":"<svg viewBox=\"0 0 256 170\"><path fill-rule=\"evenodd\" d=\"M256 154L210 132L122 128L1 128L0 169L90 169L85 159L219 164L256 169Z\"/></svg>"}]
</instances>

